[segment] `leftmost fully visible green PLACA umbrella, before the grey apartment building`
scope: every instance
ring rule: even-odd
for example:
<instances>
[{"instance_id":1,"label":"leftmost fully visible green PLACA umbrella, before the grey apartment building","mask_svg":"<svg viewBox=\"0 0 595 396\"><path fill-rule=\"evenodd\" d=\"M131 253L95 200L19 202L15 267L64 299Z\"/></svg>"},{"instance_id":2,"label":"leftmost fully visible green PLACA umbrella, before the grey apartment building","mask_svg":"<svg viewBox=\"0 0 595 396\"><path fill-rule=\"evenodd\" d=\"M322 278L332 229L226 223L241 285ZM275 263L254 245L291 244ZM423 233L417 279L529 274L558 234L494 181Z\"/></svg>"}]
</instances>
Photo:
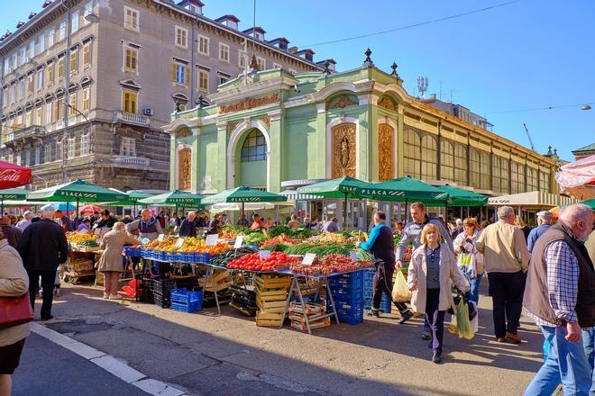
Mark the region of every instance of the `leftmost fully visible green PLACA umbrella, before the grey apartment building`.
<instances>
[{"instance_id":1,"label":"leftmost fully visible green PLACA umbrella, before the grey apartment building","mask_svg":"<svg viewBox=\"0 0 595 396\"><path fill-rule=\"evenodd\" d=\"M77 202L111 202L120 201L125 194L114 192L100 185L77 179L74 182L55 185L27 194L27 201Z\"/></svg>"}]
</instances>

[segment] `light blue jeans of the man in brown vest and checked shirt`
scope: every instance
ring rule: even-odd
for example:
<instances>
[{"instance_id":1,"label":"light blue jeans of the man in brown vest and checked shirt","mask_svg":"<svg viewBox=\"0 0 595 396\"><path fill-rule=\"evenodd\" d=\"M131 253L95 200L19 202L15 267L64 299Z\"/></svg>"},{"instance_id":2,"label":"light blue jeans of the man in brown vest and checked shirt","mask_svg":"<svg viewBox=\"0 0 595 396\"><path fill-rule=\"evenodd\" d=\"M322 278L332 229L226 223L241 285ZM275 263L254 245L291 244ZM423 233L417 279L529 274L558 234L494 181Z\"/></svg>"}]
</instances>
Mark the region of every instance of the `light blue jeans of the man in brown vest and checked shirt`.
<instances>
[{"instance_id":1,"label":"light blue jeans of the man in brown vest and checked shirt","mask_svg":"<svg viewBox=\"0 0 595 396\"><path fill-rule=\"evenodd\" d=\"M588 395L592 380L582 343L567 341L564 337L568 332L563 327L543 326L541 331L550 342L550 350L525 396L551 395L561 382L564 395Z\"/></svg>"}]
</instances>

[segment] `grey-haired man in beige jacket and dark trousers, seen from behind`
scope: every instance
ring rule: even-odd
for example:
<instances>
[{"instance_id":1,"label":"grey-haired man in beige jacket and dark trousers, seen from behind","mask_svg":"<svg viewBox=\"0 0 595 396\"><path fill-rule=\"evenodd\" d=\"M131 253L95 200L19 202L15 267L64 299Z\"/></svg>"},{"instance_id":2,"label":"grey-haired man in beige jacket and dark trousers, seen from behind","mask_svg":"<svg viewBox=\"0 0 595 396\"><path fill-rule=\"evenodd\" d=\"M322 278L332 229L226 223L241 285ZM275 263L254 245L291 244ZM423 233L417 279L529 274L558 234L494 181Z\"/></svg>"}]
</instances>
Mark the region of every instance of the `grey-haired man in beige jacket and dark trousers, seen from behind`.
<instances>
[{"instance_id":1,"label":"grey-haired man in beige jacket and dark trousers, seen from behind","mask_svg":"<svg viewBox=\"0 0 595 396\"><path fill-rule=\"evenodd\" d=\"M517 328L530 256L523 231L514 225L516 217L510 206L499 207L498 221L481 232L477 250L485 257L496 340L520 344Z\"/></svg>"}]
</instances>

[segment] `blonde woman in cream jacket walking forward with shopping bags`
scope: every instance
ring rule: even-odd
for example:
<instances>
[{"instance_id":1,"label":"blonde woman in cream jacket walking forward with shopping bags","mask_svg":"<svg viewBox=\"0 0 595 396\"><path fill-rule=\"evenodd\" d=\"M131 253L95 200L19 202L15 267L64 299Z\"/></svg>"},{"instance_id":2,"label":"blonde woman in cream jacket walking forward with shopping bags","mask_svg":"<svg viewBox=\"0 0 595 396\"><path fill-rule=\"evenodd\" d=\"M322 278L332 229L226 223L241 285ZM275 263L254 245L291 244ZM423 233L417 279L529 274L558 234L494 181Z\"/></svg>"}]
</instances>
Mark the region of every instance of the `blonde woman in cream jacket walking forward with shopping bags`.
<instances>
[{"instance_id":1,"label":"blonde woman in cream jacket walking forward with shopping bags","mask_svg":"<svg viewBox=\"0 0 595 396\"><path fill-rule=\"evenodd\" d=\"M444 313L454 306L451 281L462 292L469 290L469 282L456 266L453 252L440 243L440 230L434 224L426 224L420 240L422 245L413 252L407 269L407 286L413 309L426 313L430 323L432 361L438 364L442 361Z\"/></svg>"}]
</instances>

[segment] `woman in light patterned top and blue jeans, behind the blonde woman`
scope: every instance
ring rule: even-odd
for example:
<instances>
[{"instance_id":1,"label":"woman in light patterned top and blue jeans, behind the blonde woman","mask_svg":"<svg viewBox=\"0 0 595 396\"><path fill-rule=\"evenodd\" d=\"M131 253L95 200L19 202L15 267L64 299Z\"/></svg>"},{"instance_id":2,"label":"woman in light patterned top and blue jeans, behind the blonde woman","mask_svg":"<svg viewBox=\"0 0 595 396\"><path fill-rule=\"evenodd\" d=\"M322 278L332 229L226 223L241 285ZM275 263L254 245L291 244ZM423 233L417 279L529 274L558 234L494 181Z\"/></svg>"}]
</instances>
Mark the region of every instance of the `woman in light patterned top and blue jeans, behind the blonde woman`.
<instances>
[{"instance_id":1,"label":"woman in light patterned top and blue jeans, behind the blonde woman","mask_svg":"<svg viewBox=\"0 0 595 396\"><path fill-rule=\"evenodd\" d=\"M471 255L471 266L467 266L466 275L471 279L471 290L467 298L477 305L480 301L480 284L484 274L483 255L477 251L475 244L480 237L481 230L477 220L472 217L462 221L462 233L454 238L454 253Z\"/></svg>"}]
</instances>

